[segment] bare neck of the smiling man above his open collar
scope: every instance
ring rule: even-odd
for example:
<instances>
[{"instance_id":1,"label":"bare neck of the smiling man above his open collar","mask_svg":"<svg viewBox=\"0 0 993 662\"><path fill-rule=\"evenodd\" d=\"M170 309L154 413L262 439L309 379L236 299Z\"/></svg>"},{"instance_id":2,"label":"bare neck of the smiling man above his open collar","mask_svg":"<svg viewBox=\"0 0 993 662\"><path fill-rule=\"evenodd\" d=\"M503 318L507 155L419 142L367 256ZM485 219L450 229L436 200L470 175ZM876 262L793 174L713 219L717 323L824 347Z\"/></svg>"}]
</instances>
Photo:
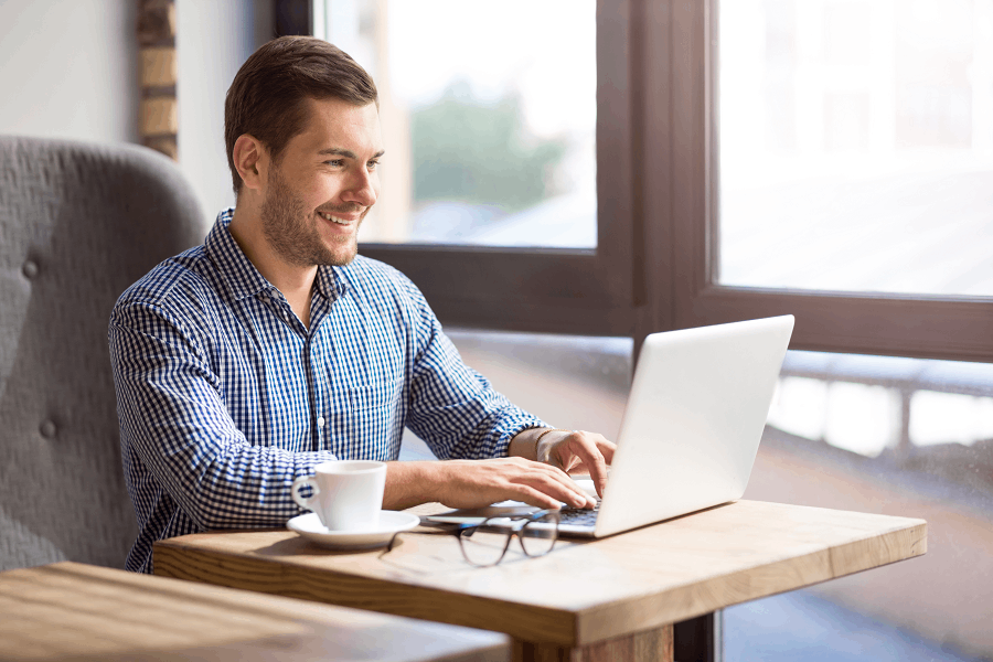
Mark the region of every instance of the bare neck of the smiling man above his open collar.
<instances>
[{"instance_id":1,"label":"bare neck of the smiling man above his open collar","mask_svg":"<svg viewBox=\"0 0 993 662\"><path fill-rule=\"evenodd\" d=\"M257 217L252 217L252 213L250 210L235 207L228 226L231 236L258 273L282 292L303 325L309 327L317 266L300 267L284 261L266 242L261 223Z\"/></svg>"}]
</instances>

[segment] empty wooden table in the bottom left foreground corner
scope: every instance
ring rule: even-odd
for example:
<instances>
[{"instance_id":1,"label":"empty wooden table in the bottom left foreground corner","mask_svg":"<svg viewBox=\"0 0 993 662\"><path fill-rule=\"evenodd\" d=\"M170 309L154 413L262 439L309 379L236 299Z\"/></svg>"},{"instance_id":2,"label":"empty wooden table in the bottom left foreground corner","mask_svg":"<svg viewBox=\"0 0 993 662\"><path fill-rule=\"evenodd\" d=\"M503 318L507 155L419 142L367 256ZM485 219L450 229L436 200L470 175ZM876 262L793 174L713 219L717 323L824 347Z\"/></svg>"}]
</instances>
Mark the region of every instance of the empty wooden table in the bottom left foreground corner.
<instances>
[{"instance_id":1,"label":"empty wooden table in the bottom left foreground corner","mask_svg":"<svg viewBox=\"0 0 993 662\"><path fill-rule=\"evenodd\" d=\"M0 573L0 660L496 661L502 634L76 563Z\"/></svg>"}]
</instances>

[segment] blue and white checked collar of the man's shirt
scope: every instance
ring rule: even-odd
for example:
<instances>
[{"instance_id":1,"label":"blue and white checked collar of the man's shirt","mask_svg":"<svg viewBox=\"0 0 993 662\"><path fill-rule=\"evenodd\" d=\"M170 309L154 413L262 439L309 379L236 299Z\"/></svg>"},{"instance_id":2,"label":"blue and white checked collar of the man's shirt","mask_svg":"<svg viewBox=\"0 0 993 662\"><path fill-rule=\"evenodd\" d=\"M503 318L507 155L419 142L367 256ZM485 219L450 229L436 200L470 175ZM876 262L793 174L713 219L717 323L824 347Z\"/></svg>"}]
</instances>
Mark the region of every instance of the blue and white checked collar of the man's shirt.
<instances>
[{"instance_id":1,"label":"blue and white checked collar of the man's shirt","mask_svg":"<svg viewBox=\"0 0 993 662\"><path fill-rule=\"evenodd\" d=\"M276 286L259 274L231 235L228 226L233 217L234 207L217 214L214 227L204 242L206 254L227 284L232 298L241 300L276 290ZM335 273L338 268L320 266L314 278L314 290L331 301L346 291L344 279Z\"/></svg>"}]
</instances>

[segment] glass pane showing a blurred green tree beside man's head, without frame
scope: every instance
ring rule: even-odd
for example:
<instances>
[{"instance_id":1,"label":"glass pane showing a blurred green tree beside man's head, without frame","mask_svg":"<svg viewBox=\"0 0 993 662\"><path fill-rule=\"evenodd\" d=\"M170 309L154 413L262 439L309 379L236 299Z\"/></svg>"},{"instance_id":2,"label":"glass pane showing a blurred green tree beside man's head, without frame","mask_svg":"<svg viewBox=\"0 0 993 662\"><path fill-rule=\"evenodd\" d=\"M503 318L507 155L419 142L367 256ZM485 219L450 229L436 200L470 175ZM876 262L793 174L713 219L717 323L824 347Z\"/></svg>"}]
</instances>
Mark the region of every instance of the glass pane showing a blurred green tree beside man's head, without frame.
<instances>
[{"instance_id":1,"label":"glass pane showing a blurred green tree beside man's head, without frame","mask_svg":"<svg viewBox=\"0 0 993 662\"><path fill-rule=\"evenodd\" d=\"M595 248L595 0L316 0L375 78L364 242Z\"/></svg>"}]
</instances>

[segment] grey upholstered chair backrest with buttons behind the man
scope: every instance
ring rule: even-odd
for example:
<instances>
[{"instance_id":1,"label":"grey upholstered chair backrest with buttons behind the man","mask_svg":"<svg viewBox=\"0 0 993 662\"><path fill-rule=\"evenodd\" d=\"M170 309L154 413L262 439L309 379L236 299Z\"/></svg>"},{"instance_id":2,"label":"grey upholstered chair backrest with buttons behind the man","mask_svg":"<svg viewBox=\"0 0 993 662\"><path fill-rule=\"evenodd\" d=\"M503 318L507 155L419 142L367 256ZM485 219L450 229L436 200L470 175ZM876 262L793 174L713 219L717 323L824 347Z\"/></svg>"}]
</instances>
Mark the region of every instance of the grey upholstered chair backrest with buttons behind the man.
<instances>
[{"instance_id":1,"label":"grey upholstered chair backrest with buttons behind the man","mask_svg":"<svg viewBox=\"0 0 993 662\"><path fill-rule=\"evenodd\" d=\"M0 136L0 570L124 566L137 523L107 322L202 222L149 149Z\"/></svg>"}]
</instances>

